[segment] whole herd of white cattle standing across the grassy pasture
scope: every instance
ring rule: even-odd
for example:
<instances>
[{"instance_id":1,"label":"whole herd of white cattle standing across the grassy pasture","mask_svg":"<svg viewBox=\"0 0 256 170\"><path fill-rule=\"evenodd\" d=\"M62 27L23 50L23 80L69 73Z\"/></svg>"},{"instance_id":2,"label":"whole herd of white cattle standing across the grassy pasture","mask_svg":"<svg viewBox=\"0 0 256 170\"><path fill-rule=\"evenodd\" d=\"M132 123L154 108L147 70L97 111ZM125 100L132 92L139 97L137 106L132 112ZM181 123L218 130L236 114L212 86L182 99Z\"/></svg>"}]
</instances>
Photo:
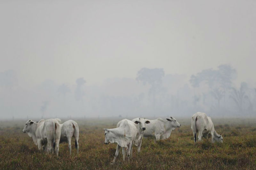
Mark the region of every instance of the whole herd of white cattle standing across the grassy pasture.
<instances>
[{"instance_id":1,"label":"whole herd of white cattle standing across the grassy pasture","mask_svg":"<svg viewBox=\"0 0 256 170\"><path fill-rule=\"evenodd\" d=\"M132 120L123 119L117 123L114 129L105 130L105 144L117 143L116 154L111 164L115 163L119 150L122 147L123 160L127 154L128 159L132 157L132 146L137 146L138 152L142 143L142 138L154 137L155 140L167 139L171 136L172 130L180 127L180 123L173 117L163 120L157 118L148 120L145 118L135 118ZM205 113L197 112L191 118L191 129L193 131L194 140L200 141L202 137L210 137L212 143L223 142L223 137L219 135L212 123L211 117ZM58 156L59 143L68 142L69 153L71 154L71 138L75 138L75 146L78 153L78 124L73 120L68 120L60 124L60 119L47 119L34 122L28 120L23 133L28 133L32 137L34 143L39 150L48 153L55 152ZM196 137L198 133L198 137Z\"/></svg>"}]
</instances>

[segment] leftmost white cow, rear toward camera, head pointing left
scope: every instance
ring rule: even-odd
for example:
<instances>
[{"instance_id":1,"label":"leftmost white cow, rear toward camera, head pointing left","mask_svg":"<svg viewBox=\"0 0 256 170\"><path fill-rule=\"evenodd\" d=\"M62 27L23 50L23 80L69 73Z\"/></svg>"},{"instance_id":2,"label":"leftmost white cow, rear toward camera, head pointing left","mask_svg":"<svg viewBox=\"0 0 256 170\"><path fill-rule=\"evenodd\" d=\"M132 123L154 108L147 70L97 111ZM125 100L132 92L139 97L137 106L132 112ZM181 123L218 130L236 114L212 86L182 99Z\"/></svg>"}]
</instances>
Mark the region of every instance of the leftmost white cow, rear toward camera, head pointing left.
<instances>
[{"instance_id":1,"label":"leftmost white cow, rear toward camera, head pointing left","mask_svg":"<svg viewBox=\"0 0 256 170\"><path fill-rule=\"evenodd\" d=\"M58 156L60 124L56 119L42 119L39 122L28 120L22 132L32 137L39 150L47 148L48 153L55 151Z\"/></svg>"}]
</instances>

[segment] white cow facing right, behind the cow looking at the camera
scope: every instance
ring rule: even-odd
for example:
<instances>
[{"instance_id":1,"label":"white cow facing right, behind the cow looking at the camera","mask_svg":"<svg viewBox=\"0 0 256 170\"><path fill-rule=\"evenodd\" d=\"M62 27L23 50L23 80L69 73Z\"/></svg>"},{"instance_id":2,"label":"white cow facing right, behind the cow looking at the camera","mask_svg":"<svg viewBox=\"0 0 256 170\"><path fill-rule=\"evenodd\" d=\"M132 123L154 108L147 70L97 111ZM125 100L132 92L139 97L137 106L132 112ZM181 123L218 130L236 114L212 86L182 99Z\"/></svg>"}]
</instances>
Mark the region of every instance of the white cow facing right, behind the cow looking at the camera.
<instances>
[{"instance_id":1,"label":"white cow facing right, behind the cow looking at the camera","mask_svg":"<svg viewBox=\"0 0 256 170\"><path fill-rule=\"evenodd\" d=\"M143 132L144 137L155 137L156 140L167 139L171 136L172 130L180 127L180 123L177 122L175 118L170 117L171 119L166 119L165 121L162 118L157 118L155 120L148 120L150 124L146 124L146 130ZM133 119L136 121L138 118Z\"/></svg>"}]
</instances>

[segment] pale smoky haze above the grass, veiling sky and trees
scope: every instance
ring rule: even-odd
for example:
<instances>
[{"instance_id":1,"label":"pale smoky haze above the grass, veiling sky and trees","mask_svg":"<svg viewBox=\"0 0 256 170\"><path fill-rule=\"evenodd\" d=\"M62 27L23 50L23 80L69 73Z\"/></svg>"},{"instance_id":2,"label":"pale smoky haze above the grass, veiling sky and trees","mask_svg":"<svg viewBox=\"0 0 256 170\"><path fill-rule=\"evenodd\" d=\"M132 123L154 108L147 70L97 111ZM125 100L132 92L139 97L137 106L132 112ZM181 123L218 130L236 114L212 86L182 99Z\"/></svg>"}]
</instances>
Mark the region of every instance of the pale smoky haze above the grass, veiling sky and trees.
<instances>
[{"instance_id":1,"label":"pale smoky haze above the grass, veiling sky and trees","mask_svg":"<svg viewBox=\"0 0 256 170\"><path fill-rule=\"evenodd\" d=\"M256 116L255 1L0 1L0 119Z\"/></svg>"}]
</instances>

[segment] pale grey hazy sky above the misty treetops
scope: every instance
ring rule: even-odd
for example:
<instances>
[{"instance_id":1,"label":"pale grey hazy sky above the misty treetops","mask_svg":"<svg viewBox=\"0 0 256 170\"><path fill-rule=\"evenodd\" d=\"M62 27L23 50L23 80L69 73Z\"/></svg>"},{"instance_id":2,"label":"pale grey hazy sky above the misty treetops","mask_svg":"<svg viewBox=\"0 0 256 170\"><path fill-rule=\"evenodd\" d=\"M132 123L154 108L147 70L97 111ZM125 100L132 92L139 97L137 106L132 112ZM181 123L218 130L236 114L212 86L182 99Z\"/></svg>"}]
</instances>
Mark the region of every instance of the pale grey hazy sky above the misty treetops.
<instances>
[{"instance_id":1,"label":"pale grey hazy sky above the misty treetops","mask_svg":"<svg viewBox=\"0 0 256 170\"><path fill-rule=\"evenodd\" d=\"M19 86L195 74L231 64L256 85L256 1L0 1L0 72Z\"/></svg>"}]
</instances>

